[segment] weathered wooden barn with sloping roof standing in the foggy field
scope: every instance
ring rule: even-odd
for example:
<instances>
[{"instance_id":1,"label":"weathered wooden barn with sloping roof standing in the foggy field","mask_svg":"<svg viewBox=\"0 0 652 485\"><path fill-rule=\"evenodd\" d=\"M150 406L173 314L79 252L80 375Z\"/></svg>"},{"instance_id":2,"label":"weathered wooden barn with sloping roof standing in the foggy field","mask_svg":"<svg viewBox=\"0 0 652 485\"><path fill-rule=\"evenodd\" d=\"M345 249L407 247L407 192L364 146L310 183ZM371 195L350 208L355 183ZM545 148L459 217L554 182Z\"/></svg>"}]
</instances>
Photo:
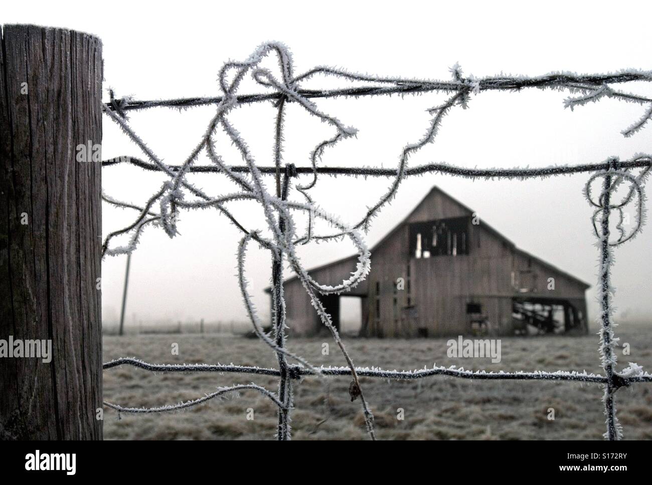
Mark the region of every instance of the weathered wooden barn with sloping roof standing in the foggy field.
<instances>
[{"instance_id":1,"label":"weathered wooden barn with sloping roof standing in the foggy field","mask_svg":"<svg viewBox=\"0 0 652 485\"><path fill-rule=\"evenodd\" d=\"M363 337L587 333L588 284L518 249L438 187L371 254L367 279L342 295L359 298ZM309 272L340 283L356 262ZM323 325L301 281L284 281L284 292L291 333L317 335ZM338 329L342 296L320 297Z\"/></svg>"}]
</instances>

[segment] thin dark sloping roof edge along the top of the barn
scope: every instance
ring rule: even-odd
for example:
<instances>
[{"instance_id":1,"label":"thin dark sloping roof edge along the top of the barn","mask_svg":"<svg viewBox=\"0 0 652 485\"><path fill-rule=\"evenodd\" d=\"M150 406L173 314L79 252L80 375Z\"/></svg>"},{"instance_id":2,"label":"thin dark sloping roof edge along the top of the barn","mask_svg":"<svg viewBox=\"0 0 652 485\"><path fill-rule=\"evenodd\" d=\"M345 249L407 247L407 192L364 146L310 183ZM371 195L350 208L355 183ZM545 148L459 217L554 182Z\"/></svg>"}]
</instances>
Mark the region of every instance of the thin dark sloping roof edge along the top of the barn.
<instances>
[{"instance_id":1,"label":"thin dark sloping roof edge along the top of the barn","mask_svg":"<svg viewBox=\"0 0 652 485\"><path fill-rule=\"evenodd\" d=\"M439 187L432 186L432 189L430 189L430 191L428 191L428 193L426 195L424 195L424 197L421 199L421 201L419 201L419 203L414 206L414 208L408 213L408 215L406 215L406 217L404 217L404 219L402 219L402 221L400 221L400 223L398 223L396 226L394 226L394 229L387 232L387 234L385 234L385 236L383 236L383 238L381 238L381 240L379 240L376 244L374 244L374 246L370 249L371 253L373 254L374 251L378 247L383 245L383 243L385 243L385 241L387 241L391 236L393 236L393 234L396 231L400 230L406 223L408 223L408 221L411 219L412 215L417 211L419 206L421 206L421 204L424 201L426 201L428 199L428 197L431 197L431 195L433 193L440 193L444 197L447 197L447 199L449 199L450 201L458 204L458 206L460 206L463 210L468 212L469 215L473 214L473 212L474 212L471 208L469 208L468 206L462 204L462 202L458 201L457 199L455 199L454 197L452 197L451 195L449 195L445 191L441 190ZM490 232L490 234L495 236L497 239L501 240L503 243L505 243L515 253L518 253L518 254L520 254L522 256L525 256L527 258L531 258L532 260L536 261L538 264L541 264L541 266L544 266L545 268L548 268L548 270L559 273L559 274L571 279L575 283L578 283L581 286L584 286L584 289L587 289L587 288L591 287L590 284L585 283L581 279L574 277L573 275L571 275L571 273L567 273L566 271L560 270L559 268L557 268L553 264L550 264L549 262L546 262L546 261L542 260L538 256L535 256L535 255L533 255L531 253L528 253L527 251L524 251L523 249L520 249L520 248L516 247L516 244L514 244L511 240L509 240L508 238L503 236L503 234L498 232L496 229L494 229L493 227L491 227L490 225L488 225L484 221L482 222L482 228L484 230L487 230L488 232ZM346 258L340 258L338 260L335 260L335 261L332 261L332 262L329 262L329 263L326 263L326 264L321 264L320 266L315 266L314 268L310 268L310 270L308 270L308 272L323 270L325 268L329 268L330 266L335 266L336 264L340 264L340 263L346 262L348 260L356 260L357 257L358 257L358 255L355 254L355 255L347 256ZM295 276L293 276L291 278L286 279L284 281L284 283L289 283L290 281L294 281L297 278L298 277L295 275ZM265 292L267 292L267 293L271 292L271 287L267 286L267 288L265 288Z\"/></svg>"}]
</instances>

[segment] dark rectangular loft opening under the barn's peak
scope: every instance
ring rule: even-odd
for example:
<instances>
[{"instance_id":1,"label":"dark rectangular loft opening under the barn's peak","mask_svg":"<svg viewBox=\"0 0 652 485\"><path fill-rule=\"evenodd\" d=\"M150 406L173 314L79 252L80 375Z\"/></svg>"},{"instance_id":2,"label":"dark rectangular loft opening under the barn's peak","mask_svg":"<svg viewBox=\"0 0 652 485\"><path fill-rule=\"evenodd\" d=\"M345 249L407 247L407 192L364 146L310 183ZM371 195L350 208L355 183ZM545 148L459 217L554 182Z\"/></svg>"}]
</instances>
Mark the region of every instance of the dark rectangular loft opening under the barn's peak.
<instances>
[{"instance_id":1,"label":"dark rectangular loft opening under the barn's peak","mask_svg":"<svg viewBox=\"0 0 652 485\"><path fill-rule=\"evenodd\" d=\"M409 225L409 256L460 256L469 254L470 217L449 217Z\"/></svg>"}]
</instances>

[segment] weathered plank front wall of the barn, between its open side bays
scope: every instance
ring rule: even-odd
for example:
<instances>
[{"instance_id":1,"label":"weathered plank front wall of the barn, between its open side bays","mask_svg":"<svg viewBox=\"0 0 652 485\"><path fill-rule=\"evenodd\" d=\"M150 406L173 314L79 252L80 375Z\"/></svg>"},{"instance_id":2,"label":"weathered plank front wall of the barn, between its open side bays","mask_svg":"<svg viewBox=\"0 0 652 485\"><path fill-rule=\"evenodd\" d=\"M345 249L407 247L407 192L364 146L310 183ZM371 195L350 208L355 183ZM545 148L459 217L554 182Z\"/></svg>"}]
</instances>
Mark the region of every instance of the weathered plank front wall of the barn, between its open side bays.
<instances>
[{"instance_id":1,"label":"weathered plank front wall of the barn, between its open side bays","mask_svg":"<svg viewBox=\"0 0 652 485\"><path fill-rule=\"evenodd\" d=\"M445 217L471 215L466 208L435 193L409 217L423 222ZM490 229L469 224L469 255L411 258L407 254L408 226L391 234L372 258L370 298L367 303L368 335L383 337L415 337L419 329L428 335L460 335L468 333L470 317L466 304L482 305L490 332L511 335L512 296L532 294L544 298L584 298L584 287L559 271L529 258ZM375 264L374 264L375 262ZM398 277L408 280L403 291L396 292L398 318L394 307L394 283ZM536 293L517 293L512 286L512 271L518 283L523 275L535 275ZM548 278L555 278L555 290L548 290ZM380 289L380 318L376 318L376 283ZM414 305L405 311L408 297ZM584 305L585 306L585 305Z\"/></svg>"}]
</instances>

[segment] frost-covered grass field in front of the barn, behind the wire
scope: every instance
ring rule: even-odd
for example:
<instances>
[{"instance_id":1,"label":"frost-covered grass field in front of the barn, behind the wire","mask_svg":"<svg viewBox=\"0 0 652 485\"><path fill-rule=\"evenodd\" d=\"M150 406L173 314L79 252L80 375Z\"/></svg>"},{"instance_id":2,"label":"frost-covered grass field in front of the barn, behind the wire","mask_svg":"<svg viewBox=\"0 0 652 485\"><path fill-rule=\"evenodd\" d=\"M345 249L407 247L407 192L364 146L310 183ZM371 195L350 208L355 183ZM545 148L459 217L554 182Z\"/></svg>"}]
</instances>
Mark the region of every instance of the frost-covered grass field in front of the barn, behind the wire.
<instances>
[{"instance_id":1,"label":"frost-covered grass field in front of the barn, behind the wire","mask_svg":"<svg viewBox=\"0 0 652 485\"><path fill-rule=\"evenodd\" d=\"M458 365L485 370L586 370L603 374L595 329L587 337L508 338L502 361L449 359L447 339L346 339L357 366L411 369ZM636 362L652 369L652 324L621 322L617 370ZM171 355L171 344L179 355ZM330 355L321 355L329 342ZM289 348L314 364L346 365L332 340L293 339ZM128 335L104 338L104 361L138 357L150 363L236 363L278 367L276 355L257 339L218 335ZM104 398L126 406L161 406L200 398L217 387L255 382L273 392L276 378L243 374L153 374L138 368L104 371ZM351 402L351 378L304 378L295 385L293 439L368 439L358 402ZM378 439L602 439L602 386L553 381L470 381L443 376L420 381L361 378L376 417ZM329 389L330 388L330 389ZM652 439L652 384L616 393L625 439ZM246 419L247 409L254 419ZM397 409L405 419L396 419ZM548 420L548 409L555 420ZM272 439L274 404L257 391L211 400L173 413L121 415L105 409L106 439Z\"/></svg>"}]
</instances>

